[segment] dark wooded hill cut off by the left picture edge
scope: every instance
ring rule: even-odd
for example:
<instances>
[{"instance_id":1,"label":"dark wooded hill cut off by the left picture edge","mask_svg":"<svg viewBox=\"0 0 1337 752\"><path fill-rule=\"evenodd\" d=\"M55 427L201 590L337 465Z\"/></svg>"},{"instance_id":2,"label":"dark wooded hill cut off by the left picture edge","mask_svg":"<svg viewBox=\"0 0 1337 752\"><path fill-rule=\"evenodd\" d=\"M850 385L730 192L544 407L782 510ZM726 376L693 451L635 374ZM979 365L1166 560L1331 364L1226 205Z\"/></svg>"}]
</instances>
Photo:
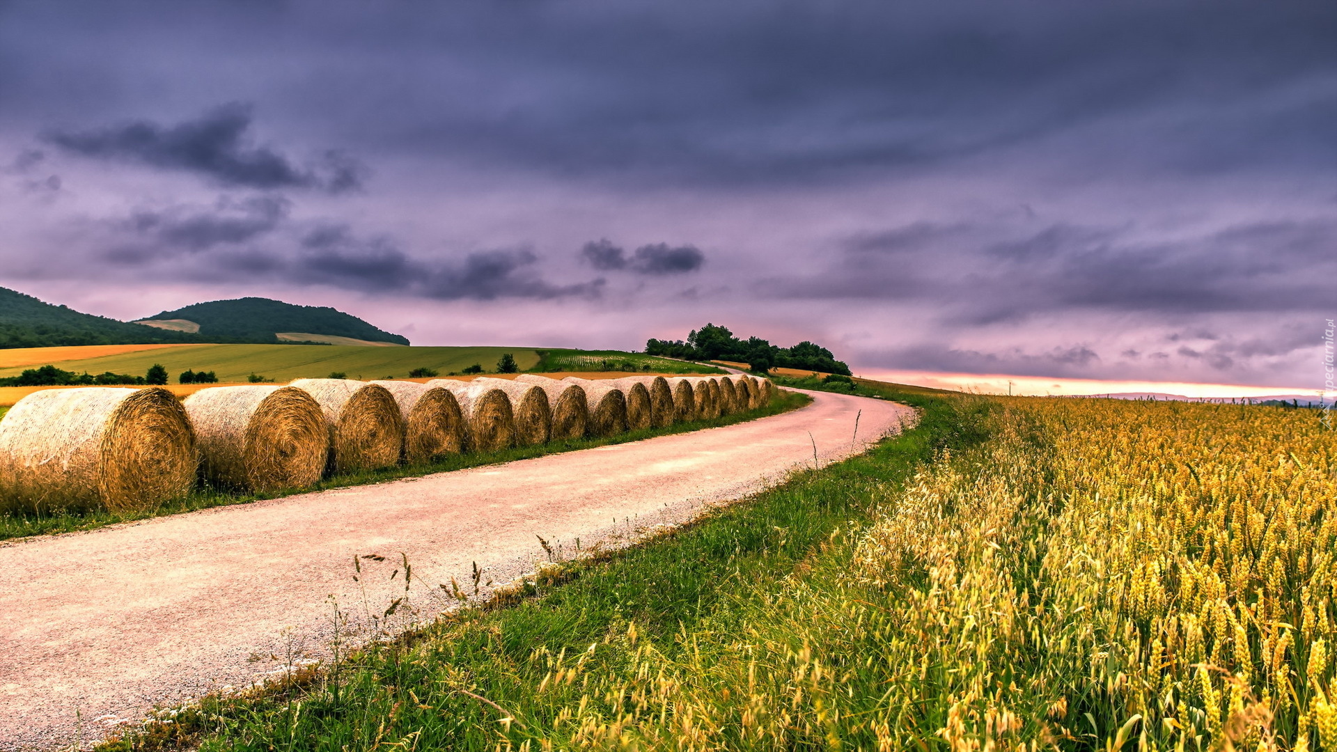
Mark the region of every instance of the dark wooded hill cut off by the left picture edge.
<instances>
[{"instance_id":1,"label":"dark wooded hill cut off by the left picture edge","mask_svg":"<svg viewBox=\"0 0 1337 752\"><path fill-rule=\"evenodd\" d=\"M115 318L79 313L63 305L52 305L0 288L0 348L203 341L206 340L190 333L150 329Z\"/></svg>"}]
</instances>

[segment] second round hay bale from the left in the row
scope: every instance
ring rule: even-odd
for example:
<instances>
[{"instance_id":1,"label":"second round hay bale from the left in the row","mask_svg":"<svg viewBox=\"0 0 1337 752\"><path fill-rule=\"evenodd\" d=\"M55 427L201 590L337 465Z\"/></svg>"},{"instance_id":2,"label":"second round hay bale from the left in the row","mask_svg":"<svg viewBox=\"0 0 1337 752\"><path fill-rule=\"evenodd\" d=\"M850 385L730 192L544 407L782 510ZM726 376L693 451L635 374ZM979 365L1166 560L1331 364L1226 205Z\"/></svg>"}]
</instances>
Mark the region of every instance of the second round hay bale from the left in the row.
<instances>
[{"instance_id":1,"label":"second round hay bale from the left in the row","mask_svg":"<svg viewBox=\"0 0 1337 752\"><path fill-rule=\"evenodd\" d=\"M330 435L321 405L293 387L211 387L186 397L205 478L270 492L321 479Z\"/></svg>"}]
</instances>

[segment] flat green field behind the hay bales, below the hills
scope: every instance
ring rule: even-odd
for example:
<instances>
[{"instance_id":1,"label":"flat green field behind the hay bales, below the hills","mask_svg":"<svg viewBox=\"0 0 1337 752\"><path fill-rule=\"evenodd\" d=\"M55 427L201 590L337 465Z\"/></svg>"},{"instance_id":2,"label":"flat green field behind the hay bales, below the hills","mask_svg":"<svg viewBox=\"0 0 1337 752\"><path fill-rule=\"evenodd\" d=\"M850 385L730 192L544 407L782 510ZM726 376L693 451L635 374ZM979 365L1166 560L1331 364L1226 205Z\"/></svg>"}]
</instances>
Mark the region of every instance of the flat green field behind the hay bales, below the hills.
<instances>
[{"instance_id":1,"label":"flat green field behind the hay bales, below the hills","mask_svg":"<svg viewBox=\"0 0 1337 752\"><path fill-rule=\"evenodd\" d=\"M332 372L350 379L404 379L414 368L431 368L443 376L481 364L496 368L501 353L512 353L521 369L533 368L539 353L532 348L416 348L416 347L342 347L342 345L183 345L87 360L56 363L66 371L88 373L144 373L160 363L172 383L182 371L213 371L219 381L246 381L258 373L278 383L293 379L322 379ZM17 376L24 368L0 369L0 377Z\"/></svg>"}]
</instances>

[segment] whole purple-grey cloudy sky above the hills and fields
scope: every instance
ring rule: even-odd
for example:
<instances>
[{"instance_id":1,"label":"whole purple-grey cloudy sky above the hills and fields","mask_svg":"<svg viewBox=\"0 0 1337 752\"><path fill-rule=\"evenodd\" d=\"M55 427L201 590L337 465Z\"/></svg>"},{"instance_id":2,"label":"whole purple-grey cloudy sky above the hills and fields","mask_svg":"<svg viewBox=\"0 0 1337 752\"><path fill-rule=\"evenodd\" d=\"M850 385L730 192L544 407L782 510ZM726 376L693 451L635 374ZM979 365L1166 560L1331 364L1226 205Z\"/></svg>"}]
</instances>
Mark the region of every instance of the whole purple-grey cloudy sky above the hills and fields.
<instances>
[{"instance_id":1,"label":"whole purple-grey cloudy sky above the hills and fields","mask_svg":"<svg viewBox=\"0 0 1337 752\"><path fill-rule=\"evenodd\" d=\"M1333 3L0 0L0 285L1320 388Z\"/></svg>"}]
</instances>

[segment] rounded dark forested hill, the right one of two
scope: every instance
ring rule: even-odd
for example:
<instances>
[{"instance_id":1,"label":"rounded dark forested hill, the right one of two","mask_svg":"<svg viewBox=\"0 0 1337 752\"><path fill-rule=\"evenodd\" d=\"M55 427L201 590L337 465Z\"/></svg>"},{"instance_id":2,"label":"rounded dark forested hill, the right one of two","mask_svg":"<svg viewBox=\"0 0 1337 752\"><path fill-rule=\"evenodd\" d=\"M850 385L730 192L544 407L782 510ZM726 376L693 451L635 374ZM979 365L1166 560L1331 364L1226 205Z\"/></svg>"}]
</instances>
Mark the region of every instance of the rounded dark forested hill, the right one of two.
<instances>
[{"instance_id":1,"label":"rounded dark forested hill, the right one of two","mask_svg":"<svg viewBox=\"0 0 1337 752\"><path fill-rule=\"evenodd\" d=\"M199 341L247 341L278 343L293 341L298 335L320 337L345 337L369 343L409 344L406 337L377 329L356 316L326 306L293 305L265 297L243 297L237 300L215 300L197 302L176 310L164 310L158 316L143 318L138 324L197 332ZM147 328L147 326L146 326ZM283 337L278 337L283 333ZM321 341L313 337L313 341Z\"/></svg>"}]
</instances>

